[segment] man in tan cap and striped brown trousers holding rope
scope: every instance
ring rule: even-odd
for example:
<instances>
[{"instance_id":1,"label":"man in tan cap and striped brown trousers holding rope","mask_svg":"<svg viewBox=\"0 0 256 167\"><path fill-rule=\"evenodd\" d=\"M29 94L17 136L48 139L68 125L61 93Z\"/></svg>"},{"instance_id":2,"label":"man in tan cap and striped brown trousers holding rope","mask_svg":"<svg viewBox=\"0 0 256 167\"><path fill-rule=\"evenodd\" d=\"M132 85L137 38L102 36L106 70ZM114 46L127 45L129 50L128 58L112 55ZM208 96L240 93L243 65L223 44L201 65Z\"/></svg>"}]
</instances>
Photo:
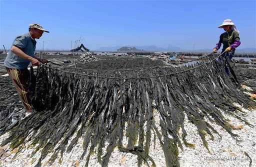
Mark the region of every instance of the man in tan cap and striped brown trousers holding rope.
<instances>
[{"instance_id":1,"label":"man in tan cap and striped brown trousers holding rope","mask_svg":"<svg viewBox=\"0 0 256 167\"><path fill-rule=\"evenodd\" d=\"M18 35L9 50L5 60L4 66L12 80L17 93L22 101L26 113L32 112L30 105L30 98L28 95L28 76L29 71L27 66L31 62L32 65L39 65L45 63L47 60L34 56L35 38L39 39L43 32L49 32L42 28L38 23L31 23L28 25L28 33Z\"/></svg>"}]
</instances>

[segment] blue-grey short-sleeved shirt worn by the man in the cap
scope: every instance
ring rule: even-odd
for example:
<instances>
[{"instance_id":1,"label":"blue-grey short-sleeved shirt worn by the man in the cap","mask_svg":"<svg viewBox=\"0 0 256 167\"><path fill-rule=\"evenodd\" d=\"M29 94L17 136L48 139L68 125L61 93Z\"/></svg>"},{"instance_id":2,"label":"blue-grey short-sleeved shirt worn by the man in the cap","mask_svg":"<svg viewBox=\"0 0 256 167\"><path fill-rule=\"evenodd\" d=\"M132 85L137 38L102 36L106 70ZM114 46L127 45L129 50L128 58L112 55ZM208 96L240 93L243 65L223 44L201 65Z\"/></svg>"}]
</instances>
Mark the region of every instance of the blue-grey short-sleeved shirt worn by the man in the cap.
<instances>
[{"instance_id":1,"label":"blue-grey short-sleeved shirt worn by the man in the cap","mask_svg":"<svg viewBox=\"0 0 256 167\"><path fill-rule=\"evenodd\" d=\"M35 44L36 41L31 37L30 33L18 35L12 43L13 46L18 47L31 57L34 57ZM12 51L9 51L4 60L4 66L15 69L25 69L29 63L29 60L17 56Z\"/></svg>"}]
</instances>

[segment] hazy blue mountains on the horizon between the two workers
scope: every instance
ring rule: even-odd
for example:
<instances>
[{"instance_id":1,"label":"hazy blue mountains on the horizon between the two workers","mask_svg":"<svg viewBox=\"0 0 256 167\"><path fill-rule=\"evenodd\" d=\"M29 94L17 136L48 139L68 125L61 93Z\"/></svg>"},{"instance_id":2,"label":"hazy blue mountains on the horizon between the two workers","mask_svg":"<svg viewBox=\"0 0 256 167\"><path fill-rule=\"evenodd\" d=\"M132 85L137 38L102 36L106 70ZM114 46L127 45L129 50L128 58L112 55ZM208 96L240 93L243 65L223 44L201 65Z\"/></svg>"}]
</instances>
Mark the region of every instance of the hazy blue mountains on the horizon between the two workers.
<instances>
[{"instance_id":1,"label":"hazy blue mountains on the horizon between the two workers","mask_svg":"<svg viewBox=\"0 0 256 167\"><path fill-rule=\"evenodd\" d=\"M118 48L122 46L112 46L112 47L100 47L98 49L95 49L97 51L116 51ZM167 47L158 47L155 45L144 45L144 46L136 46L136 45L127 45L126 47L135 47L137 49L143 50L143 51L182 51L183 49L176 46L167 46Z\"/></svg>"}]
</instances>

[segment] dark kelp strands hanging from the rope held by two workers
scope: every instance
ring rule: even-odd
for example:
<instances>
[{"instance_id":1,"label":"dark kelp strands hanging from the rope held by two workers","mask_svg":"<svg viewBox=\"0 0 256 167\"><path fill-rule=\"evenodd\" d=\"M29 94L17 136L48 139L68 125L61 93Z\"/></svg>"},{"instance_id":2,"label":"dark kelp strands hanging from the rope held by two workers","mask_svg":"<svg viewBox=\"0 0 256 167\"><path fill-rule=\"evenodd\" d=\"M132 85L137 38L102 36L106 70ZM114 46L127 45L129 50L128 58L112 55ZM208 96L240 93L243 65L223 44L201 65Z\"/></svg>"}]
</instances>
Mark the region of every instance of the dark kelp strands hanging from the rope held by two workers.
<instances>
[{"instance_id":1,"label":"dark kelp strands hanging from the rope held by two workers","mask_svg":"<svg viewBox=\"0 0 256 167\"><path fill-rule=\"evenodd\" d=\"M132 63L141 66L142 61ZM113 63L118 63L118 59ZM247 108L255 108L255 102L239 91L238 84L226 74L226 63L225 59L217 61L205 56L187 65L148 65L125 70L58 68L54 63L40 66L31 88L36 112L9 129L10 135L1 146L9 143L11 149L19 150L29 141L34 146L31 157L41 149L36 164L40 166L52 151L49 164L57 158L61 160L63 153L82 137L80 159L86 160L85 166L96 146L102 166L107 166L115 147L137 155L138 165L155 166L149 156L150 136L154 133L166 166L179 166L178 147L183 150L183 146L193 146L186 140L185 115L197 127L207 149L205 136L213 139L213 133L218 134L208 121L222 126L234 139L237 137L219 109L250 124L233 102ZM107 65L111 66L111 62ZM232 71L230 66L229 70ZM160 129L155 125L153 110L158 112ZM122 142L123 131L127 144Z\"/></svg>"}]
</instances>

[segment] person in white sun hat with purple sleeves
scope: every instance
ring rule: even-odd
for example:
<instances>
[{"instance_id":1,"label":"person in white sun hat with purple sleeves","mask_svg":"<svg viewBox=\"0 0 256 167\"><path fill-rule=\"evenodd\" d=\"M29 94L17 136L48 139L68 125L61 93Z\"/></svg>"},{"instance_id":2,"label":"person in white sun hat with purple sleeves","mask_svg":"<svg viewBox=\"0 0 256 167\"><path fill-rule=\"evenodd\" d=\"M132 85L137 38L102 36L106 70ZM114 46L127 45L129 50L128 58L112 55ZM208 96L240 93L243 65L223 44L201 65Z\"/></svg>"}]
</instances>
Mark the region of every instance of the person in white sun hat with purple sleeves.
<instances>
[{"instance_id":1,"label":"person in white sun hat with purple sleeves","mask_svg":"<svg viewBox=\"0 0 256 167\"><path fill-rule=\"evenodd\" d=\"M223 28L225 32L221 33L219 36L219 41L213 48L213 53L216 53L220 48L221 43L223 43L222 52L223 56L227 56L230 59L234 55L234 50L240 45L239 31L231 19L225 19L218 28ZM229 74L227 66L225 66L225 71Z\"/></svg>"}]
</instances>

